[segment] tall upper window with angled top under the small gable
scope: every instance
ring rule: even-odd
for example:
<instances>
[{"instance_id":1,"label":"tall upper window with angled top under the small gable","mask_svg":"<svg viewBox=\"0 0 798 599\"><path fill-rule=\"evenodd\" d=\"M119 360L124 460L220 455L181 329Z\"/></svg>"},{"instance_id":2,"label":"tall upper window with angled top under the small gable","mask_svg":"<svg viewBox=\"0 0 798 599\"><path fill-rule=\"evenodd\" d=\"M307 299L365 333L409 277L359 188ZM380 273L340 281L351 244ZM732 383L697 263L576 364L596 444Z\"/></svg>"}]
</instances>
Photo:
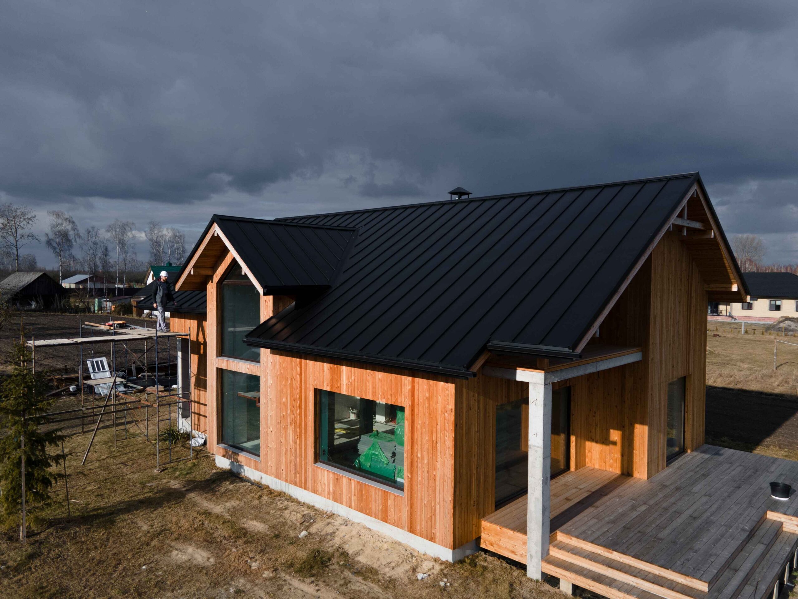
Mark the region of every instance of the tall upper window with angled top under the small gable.
<instances>
[{"instance_id":1,"label":"tall upper window with angled top under the small gable","mask_svg":"<svg viewBox=\"0 0 798 599\"><path fill-rule=\"evenodd\" d=\"M260 324L260 296L235 264L222 281L222 355L259 362L260 350L244 343L244 335Z\"/></svg>"}]
</instances>

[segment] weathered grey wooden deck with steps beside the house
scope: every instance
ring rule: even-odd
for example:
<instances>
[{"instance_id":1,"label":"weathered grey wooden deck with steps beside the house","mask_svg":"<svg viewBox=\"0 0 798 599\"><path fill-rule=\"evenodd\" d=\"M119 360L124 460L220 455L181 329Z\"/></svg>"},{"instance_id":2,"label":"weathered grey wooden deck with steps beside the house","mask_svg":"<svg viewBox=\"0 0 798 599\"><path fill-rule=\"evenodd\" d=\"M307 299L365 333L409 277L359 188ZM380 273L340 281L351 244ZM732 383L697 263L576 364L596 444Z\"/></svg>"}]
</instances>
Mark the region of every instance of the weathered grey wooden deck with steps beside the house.
<instances>
[{"instance_id":1,"label":"weathered grey wooden deck with steps beside the house","mask_svg":"<svg viewBox=\"0 0 798 599\"><path fill-rule=\"evenodd\" d=\"M796 493L768 486L798 488L798 462L701 446L647 481L601 472L551 481L544 572L614 599L760 599L798 549ZM483 547L525 561L525 517L520 498L485 518Z\"/></svg>"}]
</instances>

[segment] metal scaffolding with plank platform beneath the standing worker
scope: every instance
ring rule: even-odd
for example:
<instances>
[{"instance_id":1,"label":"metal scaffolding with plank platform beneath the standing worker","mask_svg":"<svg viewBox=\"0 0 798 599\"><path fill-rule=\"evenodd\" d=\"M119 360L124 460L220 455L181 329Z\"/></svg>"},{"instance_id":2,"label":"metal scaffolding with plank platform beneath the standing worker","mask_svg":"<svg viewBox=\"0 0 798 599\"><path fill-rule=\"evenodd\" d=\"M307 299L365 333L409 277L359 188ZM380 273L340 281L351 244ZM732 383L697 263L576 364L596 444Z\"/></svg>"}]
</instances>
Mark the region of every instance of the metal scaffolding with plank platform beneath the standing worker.
<instances>
[{"instance_id":1,"label":"metal scaffolding with plank platform beneath the standing worker","mask_svg":"<svg viewBox=\"0 0 798 599\"><path fill-rule=\"evenodd\" d=\"M191 352L192 338L191 327L187 332L158 331L155 328L138 327L126 325L118 327L118 323L97 324L79 322L77 337L57 338L57 339L36 339L35 336L26 340L26 345L31 348L32 367L36 371L37 351L41 352L48 347L77 347L77 375L63 375L61 382L65 382L73 377L77 377L77 389L80 392L81 407L70 410L50 412L48 424L64 422L76 422L80 420L81 433L86 432L86 419L90 421L97 419L93 426L92 436L86 446L83 461L89 457L94 438L99 430L101 422L105 416L109 416L113 422L113 446L117 448L117 434L120 427L124 433L124 438L128 438L128 415L132 425L135 425L146 438L147 442L153 443L156 450L156 470L160 471L163 466L190 460L193 458L193 446L196 431L194 430L193 409L192 409L192 371L191 371ZM84 335L89 331L89 335ZM96 335L102 333L102 335ZM184 381L180 381L181 365L178 361L180 351L175 347L172 353L172 339L187 339L186 365L188 371L185 373ZM134 351L130 347L132 341L143 342L144 351ZM110 363L108 364L109 376L100 378L86 378L85 375L85 355L84 347L91 351L92 359L95 358L95 348L102 344L109 343ZM165 347L164 347L165 346ZM119 351L121 347L121 351ZM155 353L155 359L150 363L149 356L151 351ZM164 360L165 354L165 360ZM174 357L175 361L172 361ZM124 363L121 360L124 359ZM139 369L137 371L137 368ZM140 375L138 372L140 371ZM172 376L174 372L174 376ZM95 372L96 374L96 372ZM124 376L120 376L124 375ZM130 375L130 376L128 376ZM172 380L177 384L172 385ZM135 383L133 383L135 381ZM188 382L188 384L185 384ZM142 384L139 384L142 383ZM108 391L105 392L102 403L94 401L97 396L95 388L100 387ZM61 387L53 393L66 391L69 387ZM86 402L86 389L90 389L91 403ZM172 420L173 409L175 411L174 421ZM155 439L150 438L150 410L155 411ZM144 419L136 419L144 410ZM144 426L142 427L142 420ZM168 434L166 448L161 448L161 426L166 423L169 429L176 426L180 432L185 432L184 426L180 421L188 420L188 456L175 458L172 448L174 435ZM173 430L173 429L172 429ZM165 461L162 460L163 451L167 452Z\"/></svg>"}]
</instances>

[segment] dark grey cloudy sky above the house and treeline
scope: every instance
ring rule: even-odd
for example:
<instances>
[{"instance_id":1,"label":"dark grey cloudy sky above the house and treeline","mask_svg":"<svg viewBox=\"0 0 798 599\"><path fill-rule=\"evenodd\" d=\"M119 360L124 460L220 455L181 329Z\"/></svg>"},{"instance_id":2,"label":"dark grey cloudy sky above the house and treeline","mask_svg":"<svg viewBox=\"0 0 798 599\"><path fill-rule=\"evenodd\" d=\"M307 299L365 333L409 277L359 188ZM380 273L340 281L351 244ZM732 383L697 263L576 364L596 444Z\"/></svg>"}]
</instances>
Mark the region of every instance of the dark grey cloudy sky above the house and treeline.
<instances>
[{"instance_id":1,"label":"dark grey cloudy sky above the house and treeline","mask_svg":"<svg viewBox=\"0 0 798 599\"><path fill-rule=\"evenodd\" d=\"M213 212L697 169L728 233L798 262L796 2L0 6L0 195L39 228L192 244Z\"/></svg>"}]
</instances>

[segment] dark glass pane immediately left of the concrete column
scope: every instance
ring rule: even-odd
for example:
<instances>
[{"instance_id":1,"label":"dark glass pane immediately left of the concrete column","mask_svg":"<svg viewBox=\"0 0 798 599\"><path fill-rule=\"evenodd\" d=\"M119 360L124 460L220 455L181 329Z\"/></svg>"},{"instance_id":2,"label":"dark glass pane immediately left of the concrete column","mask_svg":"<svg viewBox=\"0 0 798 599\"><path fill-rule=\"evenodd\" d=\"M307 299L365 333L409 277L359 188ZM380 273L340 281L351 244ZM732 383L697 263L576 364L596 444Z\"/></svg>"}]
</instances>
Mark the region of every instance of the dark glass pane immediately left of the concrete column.
<instances>
[{"instance_id":1,"label":"dark glass pane immediately left of the concrete column","mask_svg":"<svg viewBox=\"0 0 798 599\"><path fill-rule=\"evenodd\" d=\"M529 400L496 406L496 506L527 492Z\"/></svg>"}]
</instances>

